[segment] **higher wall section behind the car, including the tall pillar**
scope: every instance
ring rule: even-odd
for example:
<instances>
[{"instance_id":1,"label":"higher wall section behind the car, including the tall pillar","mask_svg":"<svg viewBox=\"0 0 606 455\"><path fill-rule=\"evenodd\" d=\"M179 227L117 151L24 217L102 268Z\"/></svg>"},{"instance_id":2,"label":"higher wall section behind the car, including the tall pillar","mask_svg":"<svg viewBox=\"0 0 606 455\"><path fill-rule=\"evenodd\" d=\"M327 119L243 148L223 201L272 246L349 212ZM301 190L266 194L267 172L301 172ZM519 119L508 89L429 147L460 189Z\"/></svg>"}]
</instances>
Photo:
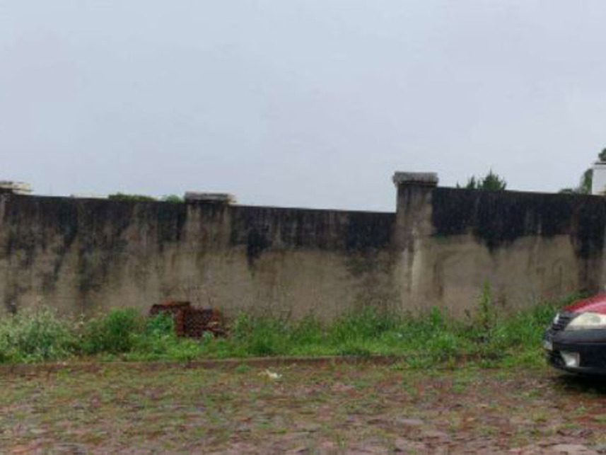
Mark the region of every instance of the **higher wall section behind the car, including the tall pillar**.
<instances>
[{"instance_id":1,"label":"higher wall section behind the car, including the tall pillar","mask_svg":"<svg viewBox=\"0 0 606 455\"><path fill-rule=\"evenodd\" d=\"M486 282L503 309L598 292L605 229L602 197L400 185L400 301L462 315Z\"/></svg>"}]
</instances>

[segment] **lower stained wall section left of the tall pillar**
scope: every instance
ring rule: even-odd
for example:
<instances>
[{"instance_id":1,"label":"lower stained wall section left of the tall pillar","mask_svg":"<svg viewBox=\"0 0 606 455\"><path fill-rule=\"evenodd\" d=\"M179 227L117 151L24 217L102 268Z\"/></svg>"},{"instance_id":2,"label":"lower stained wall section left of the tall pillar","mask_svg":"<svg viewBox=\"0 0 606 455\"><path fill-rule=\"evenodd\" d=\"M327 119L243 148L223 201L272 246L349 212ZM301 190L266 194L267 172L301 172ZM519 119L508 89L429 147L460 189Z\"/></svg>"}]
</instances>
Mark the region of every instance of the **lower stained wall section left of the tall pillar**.
<instances>
[{"instance_id":1,"label":"lower stained wall section left of the tall pillar","mask_svg":"<svg viewBox=\"0 0 606 455\"><path fill-rule=\"evenodd\" d=\"M0 196L1 311L165 298L332 318L395 306L394 214Z\"/></svg>"}]
</instances>

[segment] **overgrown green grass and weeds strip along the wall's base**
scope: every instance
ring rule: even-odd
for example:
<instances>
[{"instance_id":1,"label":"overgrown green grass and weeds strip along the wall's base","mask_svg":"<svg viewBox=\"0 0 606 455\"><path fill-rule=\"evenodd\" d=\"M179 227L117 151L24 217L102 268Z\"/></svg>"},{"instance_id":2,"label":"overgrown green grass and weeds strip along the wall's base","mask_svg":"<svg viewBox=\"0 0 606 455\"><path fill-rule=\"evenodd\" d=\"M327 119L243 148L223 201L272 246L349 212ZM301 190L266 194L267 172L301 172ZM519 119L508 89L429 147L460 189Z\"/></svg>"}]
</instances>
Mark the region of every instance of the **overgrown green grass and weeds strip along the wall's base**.
<instances>
[{"instance_id":1,"label":"overgrown green grass and weeds strip along the wall's base","mask_svg":"<svg viewBox=\"0 0 606 455\"><path fill-rule=\"evenodd\" d=\"M69 321L40 309L0 320L0 362L385 355L419 369L462 360L484 367L532 366L542 363L544 328L571 299L505 317L496 313L484 289L477 311L463 321L438 309L414 317L366 308L328 324L312 317L283 321L242 314L232 321L227 338L208 334L201 340L177 338L170 316L145 318L134 309L115 309L89 321Z\"/></svg>"}]
</instances>

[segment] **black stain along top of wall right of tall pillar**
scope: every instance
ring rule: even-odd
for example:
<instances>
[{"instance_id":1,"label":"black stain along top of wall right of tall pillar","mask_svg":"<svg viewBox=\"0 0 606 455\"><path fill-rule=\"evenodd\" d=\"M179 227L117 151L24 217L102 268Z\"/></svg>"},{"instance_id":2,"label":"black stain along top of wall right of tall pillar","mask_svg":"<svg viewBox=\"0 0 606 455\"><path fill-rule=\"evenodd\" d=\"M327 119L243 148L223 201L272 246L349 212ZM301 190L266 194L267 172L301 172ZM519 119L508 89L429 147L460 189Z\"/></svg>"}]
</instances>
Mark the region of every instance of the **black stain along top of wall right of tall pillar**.
<instances>
[{"instance_id":1,"label":"black stain along top of wall right of tall pillar","mask_svg":"<svg viewBox=\"0 0 606 455\"><path fill-rule=\"evenodd\" d=\"M570 235L581 258L601 255L606 229L603 197L436 188L435 236L473 234L494 250L523 236Z\"/></svg>"}]
</instances>

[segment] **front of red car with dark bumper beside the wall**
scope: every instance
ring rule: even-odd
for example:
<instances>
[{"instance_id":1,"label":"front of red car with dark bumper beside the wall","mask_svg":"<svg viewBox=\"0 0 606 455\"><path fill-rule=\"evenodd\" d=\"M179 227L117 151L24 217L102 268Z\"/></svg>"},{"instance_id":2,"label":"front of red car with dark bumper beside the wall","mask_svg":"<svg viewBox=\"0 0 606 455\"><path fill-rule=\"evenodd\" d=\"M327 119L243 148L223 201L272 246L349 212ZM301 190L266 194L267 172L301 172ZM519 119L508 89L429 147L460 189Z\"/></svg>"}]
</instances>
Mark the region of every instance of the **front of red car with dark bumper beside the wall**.
<instances>
[{"instance_id":1,"label":"front of red car with dark bumper beside the wall","mask_svg":"<svg viewBox=\"0 0 606 455\"><path fill-rule=\"evenodd\" d=\"M557 313L543 347L553 367L606 374L606 294L576 301Z\"/></svg>"}]
</instances>

